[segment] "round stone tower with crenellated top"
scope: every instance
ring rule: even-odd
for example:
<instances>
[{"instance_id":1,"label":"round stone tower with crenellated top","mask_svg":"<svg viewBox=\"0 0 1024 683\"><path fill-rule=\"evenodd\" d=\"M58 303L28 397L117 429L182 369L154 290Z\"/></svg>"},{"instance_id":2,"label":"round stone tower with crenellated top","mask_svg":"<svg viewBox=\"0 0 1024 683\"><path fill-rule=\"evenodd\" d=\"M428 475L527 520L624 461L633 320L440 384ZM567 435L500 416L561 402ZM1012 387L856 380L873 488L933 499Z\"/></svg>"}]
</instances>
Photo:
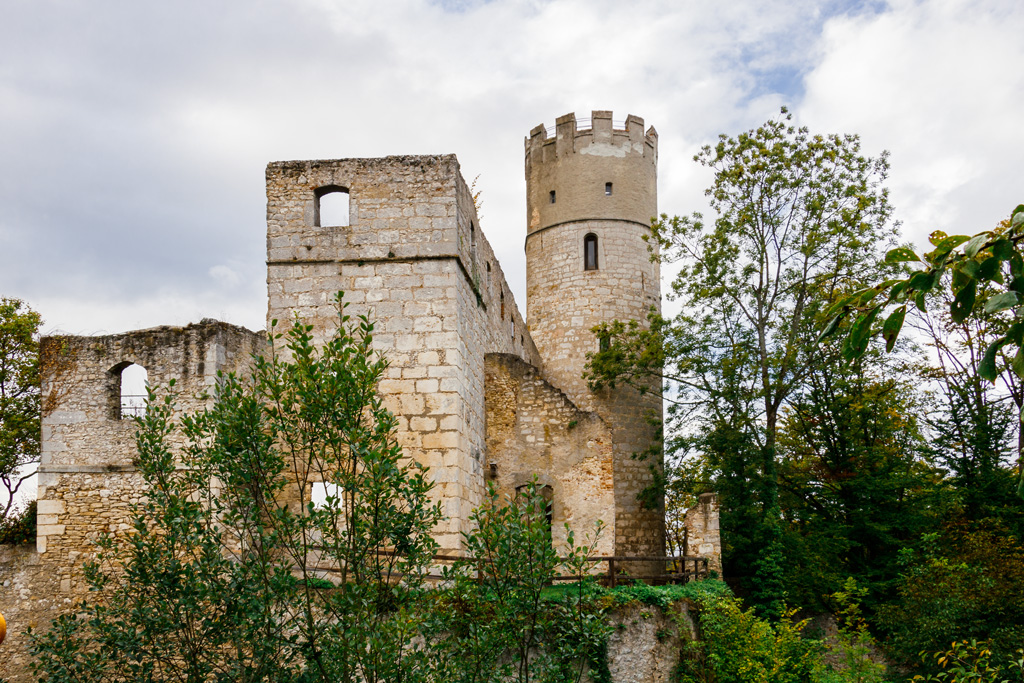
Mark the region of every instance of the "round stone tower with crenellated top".
<instances>
[{"instance_id":1,"label":"round stone tower with crenellated top","mask_svg":"<svg viewBox=\"0 0 1024 683\"><path fill-rule=\"evenodd\" d=\"M583 379L600 345L594 326L660 310L659 267L643 240L657 214L657 133L635 116L616 126L611 112L594 112L589 125L568 114L553 138L543 125L531 130L525 157L530 335L545 376L611 429L615 554L662 555L664 513L637 500L650 463L633 458L657 438L647 417L660 416L660 394L593 392Z\"/></svg>"}]
</instances>

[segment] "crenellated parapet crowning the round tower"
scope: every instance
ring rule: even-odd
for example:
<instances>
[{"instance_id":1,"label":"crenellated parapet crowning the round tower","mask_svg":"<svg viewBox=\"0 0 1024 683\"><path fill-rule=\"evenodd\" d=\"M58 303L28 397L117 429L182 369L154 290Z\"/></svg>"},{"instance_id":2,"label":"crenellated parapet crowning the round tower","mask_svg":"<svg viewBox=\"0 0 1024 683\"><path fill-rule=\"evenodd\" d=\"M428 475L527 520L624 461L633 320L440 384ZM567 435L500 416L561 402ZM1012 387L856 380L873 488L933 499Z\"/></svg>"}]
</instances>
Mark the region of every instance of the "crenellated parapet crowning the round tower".
<instances>
[{"instance_id":1,"label":"crenellated parapet crowning the round tower","mask_svg":"<svg viewBox=\"0 0 1024 683\"><path fill-rule=\"evenodd\" d=\"M626 117L625 128L615 128L609 111L591 112L590 127L581 126L575 114L555 120L555 135L541 124L529 131L524 140L527 169L532 161L551 161L572 154L625 157L638 154L657 163L657 131L651 126L644 132L644 122L638 116ZM528 171L527 171L528 173Z\"/></svg>"}]
</instances>

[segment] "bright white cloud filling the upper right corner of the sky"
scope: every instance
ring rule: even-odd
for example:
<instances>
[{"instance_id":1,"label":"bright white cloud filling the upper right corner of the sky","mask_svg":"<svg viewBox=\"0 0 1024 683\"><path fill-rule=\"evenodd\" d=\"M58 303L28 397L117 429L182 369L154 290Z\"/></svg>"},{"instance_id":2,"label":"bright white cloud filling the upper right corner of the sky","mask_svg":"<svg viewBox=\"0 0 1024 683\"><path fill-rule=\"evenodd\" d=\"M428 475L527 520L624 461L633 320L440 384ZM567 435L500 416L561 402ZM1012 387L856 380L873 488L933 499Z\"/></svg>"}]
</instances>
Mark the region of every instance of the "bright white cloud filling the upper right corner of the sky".
<instances>
[{"instance_id":1,"label":"bright white cloud filling the upper right corner of the sky","mask_svg":"<svg viewBox=\"0 0 1024 683\"><path fill-rule=\"evenodd\" d=\"M799 108L817 130L892 153L904 234L978 232L1024 201L1024 5L895 0L829 20Z\"/></svg>"}]
</instances>

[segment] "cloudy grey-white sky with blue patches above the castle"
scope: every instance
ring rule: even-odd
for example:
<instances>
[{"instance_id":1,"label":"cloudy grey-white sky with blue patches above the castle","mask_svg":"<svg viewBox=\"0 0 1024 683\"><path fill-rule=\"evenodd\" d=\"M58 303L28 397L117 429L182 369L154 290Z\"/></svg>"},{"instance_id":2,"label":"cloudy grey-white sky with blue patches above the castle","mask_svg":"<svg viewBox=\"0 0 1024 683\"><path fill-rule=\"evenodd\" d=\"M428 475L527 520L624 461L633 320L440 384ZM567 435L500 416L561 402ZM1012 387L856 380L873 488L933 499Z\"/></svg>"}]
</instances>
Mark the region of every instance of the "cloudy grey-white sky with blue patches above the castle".
<instances>
[{"instance_id":1,"label":"cloudy grey-white sky with blue patches above the castle","mask_svg":"<svg viewBox=\"0 0 1024 683\"><path fill-rule=\"evenodd\" d=\"M523 136L592 109L693 161L788 105L892 153L904 234L1024 202L1020 0L3 0L0 295L48 332L262 329L267 162L455 153L524 307Z\"/></svg>"}]
</instances>

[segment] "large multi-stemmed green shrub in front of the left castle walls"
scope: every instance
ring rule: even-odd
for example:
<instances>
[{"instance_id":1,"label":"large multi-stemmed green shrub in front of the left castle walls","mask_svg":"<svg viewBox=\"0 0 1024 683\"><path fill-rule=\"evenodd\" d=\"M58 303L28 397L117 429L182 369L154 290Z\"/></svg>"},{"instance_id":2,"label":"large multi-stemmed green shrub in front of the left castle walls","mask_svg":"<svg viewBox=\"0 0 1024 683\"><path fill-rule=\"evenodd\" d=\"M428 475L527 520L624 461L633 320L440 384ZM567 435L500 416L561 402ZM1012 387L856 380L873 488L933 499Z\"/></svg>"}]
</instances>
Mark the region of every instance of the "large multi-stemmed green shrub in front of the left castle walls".
<instances>
[{"instance_id":1,"label":"large multi-stemmed green shrub in front of the left castle walls","mask_svg":"<svg viewBox=\"0 0 1024 683\"><path fill-rule=\"evenodd\" d=\"M296 319L213 408L140 421L147 486L127 538L100 542L91 601L34 643L50 681L413 681L412 605L439 510L402 459L373 325L344 313L317 349ZM284 337L284 349L280 348ZM180 439L180 451L171 447ZM313 482L331 485L322 506Z\"/></svg>"}]
</instances>

